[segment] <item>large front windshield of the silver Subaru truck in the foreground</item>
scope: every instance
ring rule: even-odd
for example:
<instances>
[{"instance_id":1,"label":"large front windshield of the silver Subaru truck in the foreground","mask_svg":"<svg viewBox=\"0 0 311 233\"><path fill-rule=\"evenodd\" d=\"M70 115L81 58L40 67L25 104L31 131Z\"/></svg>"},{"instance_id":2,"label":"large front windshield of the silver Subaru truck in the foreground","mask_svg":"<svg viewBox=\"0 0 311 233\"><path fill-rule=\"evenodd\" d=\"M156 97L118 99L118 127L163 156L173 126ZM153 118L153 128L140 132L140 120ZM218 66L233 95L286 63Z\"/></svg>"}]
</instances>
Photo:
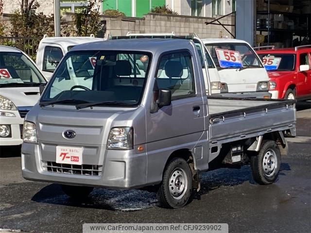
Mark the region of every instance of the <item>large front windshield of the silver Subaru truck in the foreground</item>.
<instances>
[{"instance_id":1,"label":"large front windshield of the silver Subaru truck in the foreground","mask_svg":"<svg viewBox=\"0 0 311 233\"><path fill-rule=\"evenodd\" d=\"M150 55L141 52L69 52L59 64L41 102L66 100L66 104L72 105L79 101L105 101L109 105L113 102L138 105L149 64Z\"/></svg>"}]
</instances>

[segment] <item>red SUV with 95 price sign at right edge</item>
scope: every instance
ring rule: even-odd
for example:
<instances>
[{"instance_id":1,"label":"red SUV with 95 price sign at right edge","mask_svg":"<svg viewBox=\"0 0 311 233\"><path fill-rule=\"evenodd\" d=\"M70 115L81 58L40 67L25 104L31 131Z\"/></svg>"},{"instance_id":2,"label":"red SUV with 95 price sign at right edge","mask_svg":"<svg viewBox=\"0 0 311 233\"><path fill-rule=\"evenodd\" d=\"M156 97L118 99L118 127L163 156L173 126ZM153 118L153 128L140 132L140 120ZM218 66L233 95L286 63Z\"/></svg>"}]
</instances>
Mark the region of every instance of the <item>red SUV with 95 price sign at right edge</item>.
<instances>
[{"instance_id":1,"label":"red SUV with 95 price sign at right edge","mask_svg":"<svg viewBox=\"0 0 311 233\"><path fill-rule=\"evenodd\" d=\"M272 99L311 100L311 45L256 52L268 72Z\"/></svg>"}]
</instances>

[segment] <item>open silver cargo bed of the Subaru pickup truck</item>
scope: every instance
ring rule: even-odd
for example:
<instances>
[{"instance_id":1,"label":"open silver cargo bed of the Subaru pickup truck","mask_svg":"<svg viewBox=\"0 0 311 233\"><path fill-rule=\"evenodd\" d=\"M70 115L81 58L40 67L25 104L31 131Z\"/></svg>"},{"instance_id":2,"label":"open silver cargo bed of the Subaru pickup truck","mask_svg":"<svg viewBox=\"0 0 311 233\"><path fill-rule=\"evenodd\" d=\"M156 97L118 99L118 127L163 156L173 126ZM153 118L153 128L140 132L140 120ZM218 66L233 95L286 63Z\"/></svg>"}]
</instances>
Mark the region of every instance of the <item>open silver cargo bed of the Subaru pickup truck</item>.
<instances>
[{"instance_id":1,"label":"open silver cargo bed of the Subaru pickup truck","mask_svg":"<svg viewBox=\"0 0 311 233\"><path fill-rule=\"evenodd\" d=\"M227 143L295 129L295 100L208 97L207 102L211 143Z\"/></svg>"}]
</instances>

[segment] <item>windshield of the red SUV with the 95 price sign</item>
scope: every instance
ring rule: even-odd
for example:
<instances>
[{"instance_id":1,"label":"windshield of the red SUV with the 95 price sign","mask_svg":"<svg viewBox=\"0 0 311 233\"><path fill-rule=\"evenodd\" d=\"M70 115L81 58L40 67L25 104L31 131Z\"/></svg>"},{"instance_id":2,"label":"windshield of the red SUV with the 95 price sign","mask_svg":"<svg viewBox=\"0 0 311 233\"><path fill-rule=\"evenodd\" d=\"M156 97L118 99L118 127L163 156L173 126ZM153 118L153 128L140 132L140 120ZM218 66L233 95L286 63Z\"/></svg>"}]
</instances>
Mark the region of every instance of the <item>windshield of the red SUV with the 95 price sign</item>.
<instances>
[{"instance_id":1,"label":"windshield of the red SUV with the 95 price sign","mask_svg":"<svg viewBox=\"0 0 311 233\"><path fill-rule=\"evenodd\" d=\"M267 65L269 65L269 58L280 59L277 67L269 68L269 66L265 66L267 70L277 70L277 71L290 71L294 70L295 64L295 55L294 54L279 54L279 53L260 53L258 54L262 61L267 61ZM268 59L267 59L268 58ZM265 59L265 60L263 60ZM272 60L272 59L271 59Z\"/></svg>"}]
</instances>

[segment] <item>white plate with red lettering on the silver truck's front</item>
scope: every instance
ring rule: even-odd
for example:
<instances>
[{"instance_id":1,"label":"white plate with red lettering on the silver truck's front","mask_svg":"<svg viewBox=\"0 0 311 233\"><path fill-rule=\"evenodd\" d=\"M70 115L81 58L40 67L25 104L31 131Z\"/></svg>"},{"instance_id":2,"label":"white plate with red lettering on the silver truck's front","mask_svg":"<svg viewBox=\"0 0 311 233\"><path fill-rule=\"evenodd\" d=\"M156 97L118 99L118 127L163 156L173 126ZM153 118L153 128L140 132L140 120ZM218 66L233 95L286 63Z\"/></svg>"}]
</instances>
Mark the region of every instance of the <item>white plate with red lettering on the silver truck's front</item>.
<instances>
[{"instance_id":1,"label":"white plate with red lettering on the silver truck's front","mask_svg":"<svg viewBox=\"0 0 311 233\"><path fill-rule=\"evenodd\" d=\"M57 146L56 163L82 165L82 148Z\"/></svg>"}]
</instances>

